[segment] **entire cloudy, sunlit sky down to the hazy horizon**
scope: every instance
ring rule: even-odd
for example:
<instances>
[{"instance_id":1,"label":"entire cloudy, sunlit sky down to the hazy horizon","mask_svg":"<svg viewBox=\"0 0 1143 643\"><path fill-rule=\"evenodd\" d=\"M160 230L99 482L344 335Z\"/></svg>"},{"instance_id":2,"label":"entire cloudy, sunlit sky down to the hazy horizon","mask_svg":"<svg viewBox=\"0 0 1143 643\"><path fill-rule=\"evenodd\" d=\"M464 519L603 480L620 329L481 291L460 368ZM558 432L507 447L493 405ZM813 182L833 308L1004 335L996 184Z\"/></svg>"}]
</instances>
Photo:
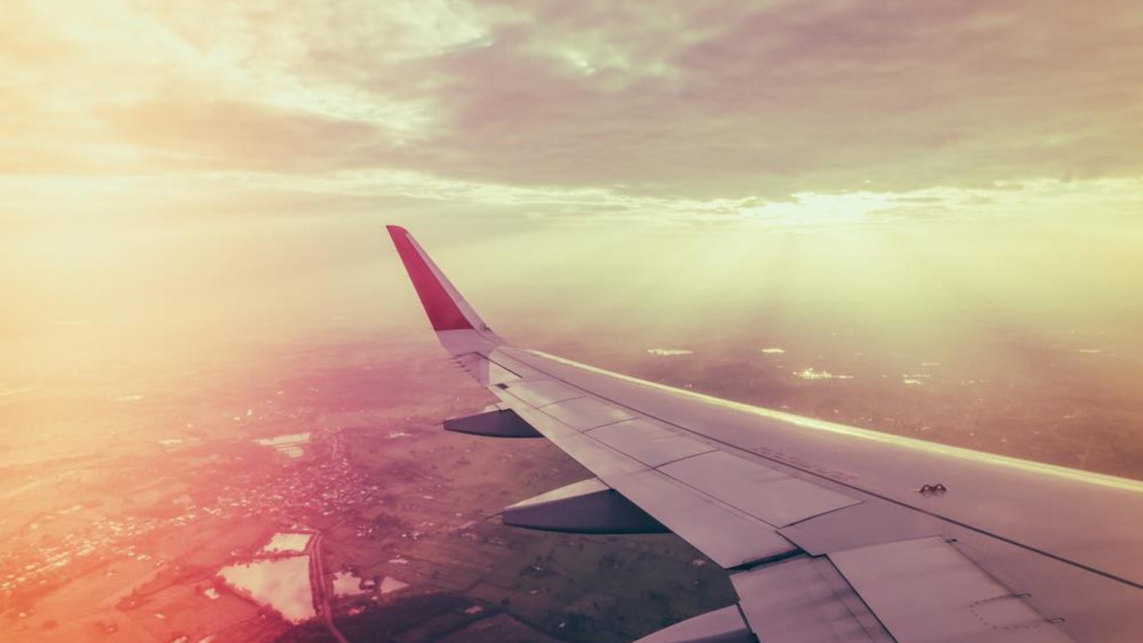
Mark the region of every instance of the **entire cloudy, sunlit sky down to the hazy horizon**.
<instances>
[{"instance_id":1,"label":"entire cloudy, sunlit sky down to the hazy horizon","mask_svg":"<svg viewBox=\"0 0 1143 643\"><path fill-rule=\"evenodd\" d=\"M526 336L1126 327L1141 29L1120 0L9 0L0 345L423 329L389 223Z\"/></svg>"}]
</instances>

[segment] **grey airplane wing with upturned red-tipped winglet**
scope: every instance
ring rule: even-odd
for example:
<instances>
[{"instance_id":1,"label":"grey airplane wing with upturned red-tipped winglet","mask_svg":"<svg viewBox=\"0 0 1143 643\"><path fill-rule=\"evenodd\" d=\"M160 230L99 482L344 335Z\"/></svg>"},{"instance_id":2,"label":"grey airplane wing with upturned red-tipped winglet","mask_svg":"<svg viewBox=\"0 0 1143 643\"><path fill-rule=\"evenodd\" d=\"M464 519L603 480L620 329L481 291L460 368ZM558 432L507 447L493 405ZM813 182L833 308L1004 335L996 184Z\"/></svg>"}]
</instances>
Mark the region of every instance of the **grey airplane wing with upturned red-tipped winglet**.
<instances>
[{"instance_id":1,"label":"grey airplane wing with upturned red-tipped winglet","mask_svg":"<svg viewBox=\"0 0 1143 643\"><path fill-rule=\"evenodd\" d=\"M1143 483L842 426L512 346L389 226L441 344L594 477L510 524L671 531L738 601L641 643L1138 643Z\"/></svg>"}]
</instances>

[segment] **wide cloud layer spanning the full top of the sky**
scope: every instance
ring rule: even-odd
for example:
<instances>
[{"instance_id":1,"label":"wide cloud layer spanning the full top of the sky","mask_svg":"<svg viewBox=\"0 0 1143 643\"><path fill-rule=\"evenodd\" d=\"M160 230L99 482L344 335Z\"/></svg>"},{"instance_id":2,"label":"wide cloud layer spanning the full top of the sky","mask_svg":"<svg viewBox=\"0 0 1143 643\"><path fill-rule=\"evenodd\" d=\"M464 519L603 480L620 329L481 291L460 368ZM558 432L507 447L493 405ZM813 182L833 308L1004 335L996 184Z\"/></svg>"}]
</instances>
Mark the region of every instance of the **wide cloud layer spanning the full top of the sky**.
<instances>
[{"instance_id":1,"label":"wide cloud layer spanning the full top of the sky","mask_svg":"<svg viewBox=\"0 0 1143 643\"><path fill-rule=\"evenodd\" d=\"M820 195L933 214L999 182L1143 176L1143 18L1119 0L64 5L0 27L11 176L232 174L562 219Z\"/></svg>"}]
</instances>

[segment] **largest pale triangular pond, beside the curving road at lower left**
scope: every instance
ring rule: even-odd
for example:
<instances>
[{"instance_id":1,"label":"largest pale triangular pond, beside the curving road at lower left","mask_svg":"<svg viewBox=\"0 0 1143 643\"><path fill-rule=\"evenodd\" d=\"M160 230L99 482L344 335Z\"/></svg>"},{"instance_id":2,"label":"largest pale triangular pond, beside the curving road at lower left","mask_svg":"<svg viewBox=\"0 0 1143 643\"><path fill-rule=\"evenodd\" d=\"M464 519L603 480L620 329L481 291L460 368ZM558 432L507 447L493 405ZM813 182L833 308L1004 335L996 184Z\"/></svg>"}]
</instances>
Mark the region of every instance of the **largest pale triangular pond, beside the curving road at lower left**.
<instances>
[{"instance_id":1,"label":"largest pale triangular pond, beside the curving road at lower left","mask_svg":"<svg viewBox=\"0 0 1143 643\"><path fill-rule=\"evenodd\" d=\"M218 573L235 589L278 610L290 622L317 616L310 588L309 556L254 561L223 568Z\"/></svg>"}]
</instances>

